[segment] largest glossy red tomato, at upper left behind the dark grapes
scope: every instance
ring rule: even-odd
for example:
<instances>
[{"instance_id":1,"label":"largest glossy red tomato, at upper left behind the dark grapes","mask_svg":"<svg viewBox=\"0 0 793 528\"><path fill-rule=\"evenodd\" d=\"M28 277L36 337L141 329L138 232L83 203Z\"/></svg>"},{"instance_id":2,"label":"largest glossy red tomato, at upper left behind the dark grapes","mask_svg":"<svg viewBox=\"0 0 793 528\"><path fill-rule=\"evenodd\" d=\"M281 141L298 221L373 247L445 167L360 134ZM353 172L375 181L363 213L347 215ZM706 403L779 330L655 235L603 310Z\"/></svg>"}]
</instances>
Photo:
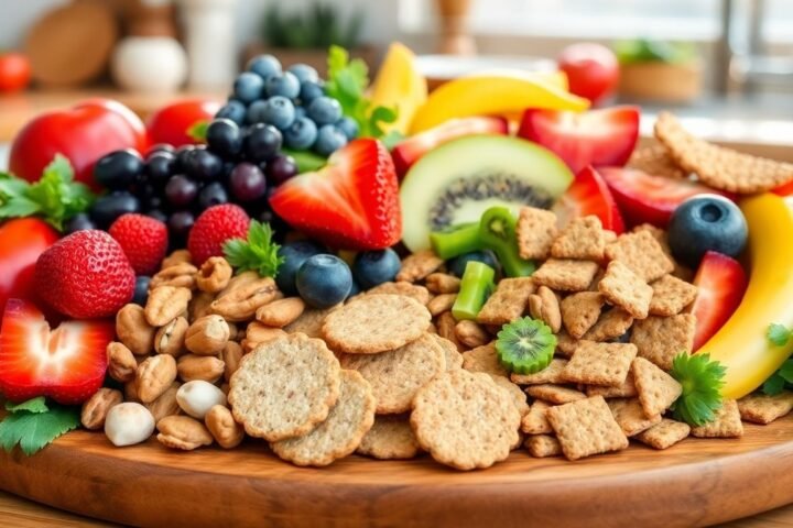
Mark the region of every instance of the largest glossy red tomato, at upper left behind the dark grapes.
<instances>
[{"instance_id":1,"label":"largest glossy red tomato, at upper left behind the dark grapes","mask_svg":"<svg viewBox=\"0 0 793 528\"><path fill-rule=\"evenodd\" d=\"M55 154L61 153L72 162L75 179L99 190L94 182L94 164L121 148L145 151L143 122L120 102L90 99L30 121L14 138L9 167L20 178L36 182Z\"/></svg>"}]
</instances>

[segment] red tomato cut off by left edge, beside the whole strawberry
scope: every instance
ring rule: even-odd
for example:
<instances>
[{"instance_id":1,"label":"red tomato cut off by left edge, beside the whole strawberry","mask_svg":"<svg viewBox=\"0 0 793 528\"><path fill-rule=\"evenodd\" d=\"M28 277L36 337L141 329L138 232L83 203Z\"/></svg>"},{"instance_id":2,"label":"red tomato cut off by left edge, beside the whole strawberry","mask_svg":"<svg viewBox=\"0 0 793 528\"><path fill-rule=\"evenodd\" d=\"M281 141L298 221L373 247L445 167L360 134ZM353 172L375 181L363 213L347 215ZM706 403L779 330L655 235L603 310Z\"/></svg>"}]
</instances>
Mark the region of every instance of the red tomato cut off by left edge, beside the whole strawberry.
<instances>
[{"instance_id":1,"label":"red tomato cut off by left edge, beside the whole strawberry","mask_svg":"<svg viewBox=\"0 0 793 528\"><path fill-rule=\"evenodd\" d=\"M0 315L8 299L31 298L39 255L57 240L58 233L37 218L19 218L0 226Z\"/></svg>"}]
</instances>

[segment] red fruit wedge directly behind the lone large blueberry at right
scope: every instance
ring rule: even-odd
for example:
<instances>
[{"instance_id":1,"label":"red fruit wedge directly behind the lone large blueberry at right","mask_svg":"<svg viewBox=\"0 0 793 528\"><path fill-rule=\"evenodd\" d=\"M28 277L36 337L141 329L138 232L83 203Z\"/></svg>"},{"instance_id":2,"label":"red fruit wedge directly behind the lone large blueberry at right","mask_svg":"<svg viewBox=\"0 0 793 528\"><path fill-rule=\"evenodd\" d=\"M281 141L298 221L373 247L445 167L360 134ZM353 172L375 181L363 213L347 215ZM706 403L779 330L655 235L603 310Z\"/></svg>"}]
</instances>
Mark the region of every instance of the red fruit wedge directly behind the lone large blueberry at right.
<instances>
[{"instance_id":1,"label":"red fruit wedge directly behind the lone large blueberry at right","mask_svg":"<svg viewBox=\"0 0 793 528\"><path fill-rule=\"evenodd\" d=\"M730 193L687 179L653 176L633 168L602 167L599 170L629 226L649 222L665 228L677 206L705 193L736 199Z\"/></svg>"}]
</instances>

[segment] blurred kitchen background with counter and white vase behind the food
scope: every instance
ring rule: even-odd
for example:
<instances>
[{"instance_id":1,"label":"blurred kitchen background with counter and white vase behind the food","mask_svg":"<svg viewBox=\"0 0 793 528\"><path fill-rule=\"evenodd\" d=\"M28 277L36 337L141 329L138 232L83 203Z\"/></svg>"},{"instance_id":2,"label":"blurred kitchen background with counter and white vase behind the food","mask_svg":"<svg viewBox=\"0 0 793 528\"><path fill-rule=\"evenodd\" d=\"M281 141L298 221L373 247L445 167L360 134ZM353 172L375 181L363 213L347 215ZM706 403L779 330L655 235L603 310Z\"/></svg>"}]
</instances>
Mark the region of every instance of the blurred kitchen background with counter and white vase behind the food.
<instances>
[{"instance_id":1,"label":"blurred kitchen background with counter and white vase behind the food","mask_svg":"<svg viewBox=\"0 0 793 528\"><path fill-rule=\"evenodd\" d=\"M565 46L600 43L621 63L608 102L641 103L645 133L673 108L710 139L793 145L791 0L2 0L0 50L23 53L32 80L0 92L0 144L85 97L142 116L180 97L222 100L262 52L322 66L337 43L373 72L391 41L420 55L431 86L555 69Z\"/></svg>"}]
</instances>

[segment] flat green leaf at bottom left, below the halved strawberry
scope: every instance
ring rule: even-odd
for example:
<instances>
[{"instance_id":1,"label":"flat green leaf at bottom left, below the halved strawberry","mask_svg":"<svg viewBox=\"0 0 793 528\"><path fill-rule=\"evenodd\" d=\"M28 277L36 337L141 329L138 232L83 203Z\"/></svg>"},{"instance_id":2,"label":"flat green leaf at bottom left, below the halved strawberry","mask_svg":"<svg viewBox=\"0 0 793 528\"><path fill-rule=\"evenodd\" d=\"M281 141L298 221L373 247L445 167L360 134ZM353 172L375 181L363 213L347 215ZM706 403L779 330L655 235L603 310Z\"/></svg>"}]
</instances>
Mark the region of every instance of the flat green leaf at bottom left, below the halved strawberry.
<instances>
[{"instance_id":1,"label":"flat green leaf at bottom left, below the halved strawberry","mask_svg":"<svg viewBox=\"0 0 793 528\"><path fill-rule=\"evenodd\" d=\"M19 444L30 457L61 435L76 429L79 419L79 408L61 405L46 413L14 413L0 422L0 447L11 452Z\"/></svg>"}]
</instances>

